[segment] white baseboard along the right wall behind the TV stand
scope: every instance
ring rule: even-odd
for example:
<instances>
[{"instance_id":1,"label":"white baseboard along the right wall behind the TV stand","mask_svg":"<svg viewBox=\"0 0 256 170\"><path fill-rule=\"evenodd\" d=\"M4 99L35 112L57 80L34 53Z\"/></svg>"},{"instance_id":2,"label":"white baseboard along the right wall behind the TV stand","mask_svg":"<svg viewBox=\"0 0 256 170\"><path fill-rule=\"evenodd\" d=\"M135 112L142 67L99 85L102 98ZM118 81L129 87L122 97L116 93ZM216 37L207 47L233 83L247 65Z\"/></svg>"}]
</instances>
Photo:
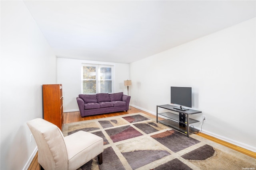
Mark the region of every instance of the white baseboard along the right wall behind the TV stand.
<instances>
[{"instance_id":1,"label":"white baseboard along the right wall behind the TV stand","mask_svg":"<svg viewBox=\"0 0 256 170\"><path fill-rule=\"evenodd\" d=\"M131 104L130 104L130 106L133 106L134 108L138 108L138 109L140 109L140 110L143 110L143 111L145 111L145 112L148 112L148 113L153 114L153 115L156 116L156 113L151 112L151 111L149 111L149 110L145 110L145 109L143 109L143 108L140 108L140 107L138 107L138 106L134 106L134 105L131 105ZM159 117L162 117L162 116L159 116ZM164 117L162 117L162 118L164 118ZM194 128L196 128L196 129L198 129L198 130L201 130L201 128L198 128L198 127L194 127ZM241 142L238 142L238 141L235 141L235 140L226 138L226 137L224 137L224 136L220 136L220 135L218 135L218 134L214 134L214 133L212 133L212 132L209 132L209 131L206 131L206 130L203 130L203 129L202 129L202 132L203 132L204 134L207 134L207 135L212 136L212 137L214 137L214 138L223 140L223 141L228 142L228 143L230 143L230 144L234 144L234 145L239 146L239 147L241 147L241 148L250 150L250 151L252 151L252 152L256 152L256 148L253 147L253 146L250 146L250 145L247 145L247 144L244 144L244 143L241 143Z\"/></svg>"}]
</instances>

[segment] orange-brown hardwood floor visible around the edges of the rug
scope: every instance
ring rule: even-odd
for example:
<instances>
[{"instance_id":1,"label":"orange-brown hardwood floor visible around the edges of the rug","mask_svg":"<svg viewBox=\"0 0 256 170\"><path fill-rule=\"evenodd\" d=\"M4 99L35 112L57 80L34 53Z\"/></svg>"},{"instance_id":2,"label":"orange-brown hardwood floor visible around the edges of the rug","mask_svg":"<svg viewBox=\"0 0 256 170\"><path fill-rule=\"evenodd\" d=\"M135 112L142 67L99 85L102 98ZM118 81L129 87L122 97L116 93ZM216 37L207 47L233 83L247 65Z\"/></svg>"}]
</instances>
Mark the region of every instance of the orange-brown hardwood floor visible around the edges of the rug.
<instances>
[{"instance_id":1,"label":"orange-brown hardwood floor visible around the edges of the rug","mask_svg":"<svg viewBox=\"0 0 256 170\"><path fill-rule=\"evenodd\" d=\"M100 115L94 115L94 116L86 116L84 118L82 118L80 116L80 112L65 112L63 113L63 116L64 116L64 124L66 123L72 123L72 122L79 122L79 121L84 121L84 120L93 120L93 119L98 119L98 118L107 118L107 117L112 117L112 116L119 116L119 115L124 115L124 114L132 114L132 113L138 113L138 112L142 112L144 114L147 114L149 116L152 116L152 118L156 118L156 116L148 113L148 112L145 112L143 110L139 110L137 108L134 108L132 106L130 106L130 110L128 110L128 112L115 112L115 113L108 113L108 114L100 114ZM159 118L159 120L162 120L162 118ZM238 152L241 152L243 154L246 154L248 156L251 156L253 158L256 158L256 153L255 152L252 152L250 150L246 150L244 148L241 148L239 146L236 146L236 145L233 145L233 144L230 144L228 142L224 142L222 140L219 140L217 138L214 138L212 136L208 136L206 134L203 134L203 133L199 133L198 135L208 139L208 140L212 140L218 144L222 144L228 148L232 148L234 150L237 150ZM38 158L38 154L36 153L36 156L34 157L33 161L31 162L28 170L40 170L40 166L37 162L37 158Z\"/></svg>"}]
</instances>

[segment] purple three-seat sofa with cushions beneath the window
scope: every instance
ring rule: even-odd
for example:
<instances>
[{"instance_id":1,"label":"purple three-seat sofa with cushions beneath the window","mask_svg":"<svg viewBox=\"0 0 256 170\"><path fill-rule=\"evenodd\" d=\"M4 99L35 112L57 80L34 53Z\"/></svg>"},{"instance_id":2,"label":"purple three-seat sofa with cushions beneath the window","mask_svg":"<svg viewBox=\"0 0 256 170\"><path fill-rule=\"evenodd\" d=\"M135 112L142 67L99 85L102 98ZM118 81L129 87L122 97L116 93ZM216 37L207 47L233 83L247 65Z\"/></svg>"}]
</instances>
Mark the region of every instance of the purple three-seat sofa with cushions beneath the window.
<instances>
[{"instance_id":1,"label":"purple three-seat sofa with cushions beneath the window","mask_svg":"<svg viewBox=\"0 0 256 170\"><path fill-rule=\"evenodd\" d=\"M82 117L95 114L126 111L129 109L131 96L119 93L79 94L76 98Z\"/></svg>"}]
</instances>

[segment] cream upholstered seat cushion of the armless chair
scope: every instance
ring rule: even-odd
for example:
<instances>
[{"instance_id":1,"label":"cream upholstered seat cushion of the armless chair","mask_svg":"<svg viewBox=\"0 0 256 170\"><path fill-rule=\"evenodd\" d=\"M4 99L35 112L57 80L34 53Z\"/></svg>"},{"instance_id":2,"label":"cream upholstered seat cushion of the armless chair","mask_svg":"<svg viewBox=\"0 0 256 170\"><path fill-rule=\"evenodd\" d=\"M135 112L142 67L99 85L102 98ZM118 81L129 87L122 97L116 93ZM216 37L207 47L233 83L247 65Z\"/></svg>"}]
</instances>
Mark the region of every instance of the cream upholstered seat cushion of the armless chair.
<instances>
[{"instance_id":1,"label":"cream upholstered seat cushion of the armless chair","mask_svg":"<svg viewBox=\"0 0 256 170\"><path fill-rule=\"evenodd\" d=\"M103 152L103 139L94 134L78 131L64 137L68 153L68 169L76 170L84 162L92 159L95 153Z\"/></svg>"}]
</instances>

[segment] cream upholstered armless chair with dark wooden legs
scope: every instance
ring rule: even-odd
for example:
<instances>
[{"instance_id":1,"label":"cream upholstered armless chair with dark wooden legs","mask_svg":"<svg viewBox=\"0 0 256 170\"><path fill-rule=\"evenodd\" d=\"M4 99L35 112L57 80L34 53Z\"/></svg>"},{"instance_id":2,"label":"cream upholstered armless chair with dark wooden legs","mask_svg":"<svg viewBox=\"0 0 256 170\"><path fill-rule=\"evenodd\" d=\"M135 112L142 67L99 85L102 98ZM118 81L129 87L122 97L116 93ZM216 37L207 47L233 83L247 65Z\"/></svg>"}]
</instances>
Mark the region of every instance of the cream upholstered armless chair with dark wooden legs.
<instances>
[{"instance_id":1,"label":"cream upholstered armless chair with dark wooden legs","mask_svg":"<svg viewBox=\"0 0 256 170\"><path fill-rule=\"evenodd\" d=\"M103 139L79 131L64 137L54 124L36 118L27 122L38 147L38 163L45 170L76 170L98 156L102 164Z\"/></svg>"}]
</instances>

